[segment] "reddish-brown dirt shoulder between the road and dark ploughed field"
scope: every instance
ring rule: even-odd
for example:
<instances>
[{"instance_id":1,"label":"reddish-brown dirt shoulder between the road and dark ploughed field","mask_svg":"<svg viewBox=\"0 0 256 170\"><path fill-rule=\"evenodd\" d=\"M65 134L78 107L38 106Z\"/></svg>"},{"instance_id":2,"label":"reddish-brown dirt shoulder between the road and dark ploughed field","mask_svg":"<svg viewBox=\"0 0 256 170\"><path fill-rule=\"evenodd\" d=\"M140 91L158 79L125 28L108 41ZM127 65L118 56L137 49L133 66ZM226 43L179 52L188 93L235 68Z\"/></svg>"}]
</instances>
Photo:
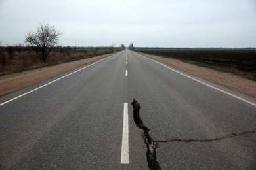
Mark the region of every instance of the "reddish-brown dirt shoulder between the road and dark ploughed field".
<instances>
[{"instance_id":1,"label":"reddish-brown dirt shoulder between the road and dark ploughed field","mask_svg":"<svg viewBox=\"0 0 256 170\"><path fill-rule=\"evenodd\" d=\"M190 63L184 63L178 59L163 58L140 52L138 53L156 61L160 61L161 63L165 63L166 65L170 65L171 67L184 71L185 73L189 73L190 75L198 76L209 82L219 84L236 92L244 93L256 98L256 82L251 80L246 80L228 73L220 73L211 69L198 67Z\"/></svg>"}]
</instances>

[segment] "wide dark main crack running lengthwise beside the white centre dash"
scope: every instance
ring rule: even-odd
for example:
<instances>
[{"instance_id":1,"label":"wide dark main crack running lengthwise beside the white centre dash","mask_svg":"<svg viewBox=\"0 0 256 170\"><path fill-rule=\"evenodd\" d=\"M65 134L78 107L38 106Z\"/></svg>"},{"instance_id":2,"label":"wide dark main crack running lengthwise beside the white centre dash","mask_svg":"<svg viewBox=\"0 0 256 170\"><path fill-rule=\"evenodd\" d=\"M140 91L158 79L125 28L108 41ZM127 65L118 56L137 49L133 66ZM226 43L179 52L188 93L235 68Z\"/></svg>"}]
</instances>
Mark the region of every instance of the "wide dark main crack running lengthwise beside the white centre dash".
<instances>
[{"instance_id":1,"label":"wide dark main crack running lengthwise beside the white centre dash","mask_svg":"<svg viewBox=\"0 0 256 170\"><path fill-rule=\"evenodd\" d=\"M133 105L133 119L137 127L142 129L142 138L144 140L144 143L146 144L146 147L148 148L146 152L146 160L148 161L148 167L149 169L161 169L158 161L156 160L156 149L158 148L158 142L154 141L152 137L150 137L150 134L148 131L148 127L144 126L141 118L140 118L140 104L133 99L133 102L131 103Z\"/></svg>"}]
</instances>

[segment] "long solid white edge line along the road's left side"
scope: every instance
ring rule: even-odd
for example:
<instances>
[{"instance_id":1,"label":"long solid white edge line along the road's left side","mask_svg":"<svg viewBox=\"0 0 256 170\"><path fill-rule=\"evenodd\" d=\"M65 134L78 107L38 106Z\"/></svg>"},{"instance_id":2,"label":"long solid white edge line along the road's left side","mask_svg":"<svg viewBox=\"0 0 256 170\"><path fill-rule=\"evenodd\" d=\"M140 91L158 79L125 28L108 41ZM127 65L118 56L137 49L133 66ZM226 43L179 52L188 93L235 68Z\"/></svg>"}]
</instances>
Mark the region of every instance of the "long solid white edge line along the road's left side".
<instances>
[{"instance_id":1,"label":"long solid white edge line along the road's left side","mask_svg":"<svg viewBox=\"0 0 256 170\"><path fill-rule=\"evenodd\" d=\"M115 55L115 54L114 54L114 55ZM114 56L114 55L112 55L112 56ZM112 56L109 56L109 57L107 57L107 58L110 58L110 57L112 57ZM107 59L107 58L104 58L104 59ZM24 95L27 95L28 93L35 92L35 90L39 90L40 88L43 88L43 87L45 87L45 86L48 86L49 84L52 84L53 82L56 82L56 81L58 81L58 80L61 80L62 78L65 78L66 76L73 75L74 73L77 73L78 71L81 71L81 70L83 70L83 69L86 69L87 67L90 67L90 66L92 66L92 65L95 65L96 63L98 63L98 62L100 62L100 61L103 61L104 59L100 59L99 61L96 61L95 63L92 63L91 65L87 65L86 67L83 67L83 68L81 68L81 69L79 69L79 70L77 70L77 71L74 71L74 72L72 72L72 73L70 73L70 74L68 74L68 75L62 76L62 77L60 77L60 78L58 78L58 79L56 79L56 80L53 80L52 82L49 82L49 83L47 83L47 84L44 84L43 86L40 86L40 87L38 87L38 88L35 88L35 89L31 90L30 92L26 92L26 93L23 93L22 95L18 95L17 97L14 97L14 98L12 98L12 99L9 99L8 101L5 101L5 102L1 103L0 106L5 105L5 104L7 104L7 103L9 103L9 102L11 102L11 101L14 101L15 99L18 99L18 98L20 98L20 97L22 97L22 96L24 96Z\"/></svg>"}]
</instances>

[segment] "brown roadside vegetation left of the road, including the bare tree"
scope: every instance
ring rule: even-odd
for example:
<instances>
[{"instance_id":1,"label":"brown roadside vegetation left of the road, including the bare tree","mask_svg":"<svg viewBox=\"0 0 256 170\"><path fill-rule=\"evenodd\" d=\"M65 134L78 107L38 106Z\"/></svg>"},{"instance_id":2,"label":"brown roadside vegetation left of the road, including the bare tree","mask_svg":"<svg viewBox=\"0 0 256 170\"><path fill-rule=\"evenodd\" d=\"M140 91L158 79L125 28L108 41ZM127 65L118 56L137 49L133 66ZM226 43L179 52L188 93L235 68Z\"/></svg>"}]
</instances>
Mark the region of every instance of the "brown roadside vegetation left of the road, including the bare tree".
<instances>
[{"instance_id":1,"label":"brown roadside vegetation left of the road, including the bare tree","mask_svg":"<svg viewBox=\"0 0 256 170\"><path fill-rule=\"evenodd\" d=\"M0 76L125 49L123 44L118 48L114 44L106 47L58 46L60 35L62 33L56 31L54 26L43 23L37 27L37 31L31 31L25 35L24 45L4 46L0 41Z\"/></svg>"}]
</instances>

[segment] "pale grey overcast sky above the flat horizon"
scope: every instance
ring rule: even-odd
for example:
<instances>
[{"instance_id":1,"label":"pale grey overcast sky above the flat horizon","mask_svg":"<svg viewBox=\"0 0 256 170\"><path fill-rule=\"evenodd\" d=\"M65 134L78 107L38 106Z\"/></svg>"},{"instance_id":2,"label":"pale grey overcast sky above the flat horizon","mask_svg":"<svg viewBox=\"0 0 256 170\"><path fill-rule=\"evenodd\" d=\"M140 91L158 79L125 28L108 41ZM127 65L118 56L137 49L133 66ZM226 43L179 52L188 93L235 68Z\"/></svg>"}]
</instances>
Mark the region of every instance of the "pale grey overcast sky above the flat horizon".
<instances>
[{"instance_id":1,"label":"pale grey overcast sky above the flat horizon","mask_svg":"<svg viewBox=\"0 0 256 170\"><path fill-rule=\"evenodd\" d=\"M3 44L43 22L62 46L256 46L256 0L0 0Z\"/></svg>"}]
</instances>

